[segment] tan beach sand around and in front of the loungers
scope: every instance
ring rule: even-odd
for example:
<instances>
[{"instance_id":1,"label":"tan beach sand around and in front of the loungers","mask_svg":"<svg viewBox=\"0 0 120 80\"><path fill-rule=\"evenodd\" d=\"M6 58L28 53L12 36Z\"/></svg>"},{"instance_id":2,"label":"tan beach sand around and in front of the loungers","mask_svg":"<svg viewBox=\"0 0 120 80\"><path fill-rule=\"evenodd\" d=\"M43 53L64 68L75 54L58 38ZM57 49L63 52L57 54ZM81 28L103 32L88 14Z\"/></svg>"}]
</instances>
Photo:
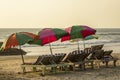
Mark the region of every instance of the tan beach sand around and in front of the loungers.
<instances>
[{"instance_id":1,"label":"tan beach sand around and in front of the loungers","mask_svg":"<svg viewBox=\"0 0 120 80\"><path fill-rule=\"evenodd\" d=\"M120 54L114 54L120 58ZM25 62L34 62L37 56L25 56ZM120 61L117 67L110 66L85 71L40 76L39 72L22 74L21 56L0 56L0 80L120 80Z\"/></svg>"}]
</instances>

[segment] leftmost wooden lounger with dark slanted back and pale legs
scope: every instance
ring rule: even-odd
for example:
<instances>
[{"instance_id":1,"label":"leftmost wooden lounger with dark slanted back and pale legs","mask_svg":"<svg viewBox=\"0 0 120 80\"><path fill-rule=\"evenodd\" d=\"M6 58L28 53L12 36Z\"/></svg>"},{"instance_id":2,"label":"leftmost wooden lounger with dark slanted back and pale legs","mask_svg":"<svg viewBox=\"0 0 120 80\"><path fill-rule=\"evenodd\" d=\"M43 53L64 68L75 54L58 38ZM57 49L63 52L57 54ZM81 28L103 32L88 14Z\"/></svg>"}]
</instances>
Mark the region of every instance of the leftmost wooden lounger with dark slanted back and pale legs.
<instances>
[{"instance_id":1,"label":"leftmost wooden lounger with dark slanted back and pale legs","mask_svg":"<svg viewBox=\"0 0 120 80\"><path fill-rule=\"evenodd\" d=\"M26 72L26 67L33 68L33 71L36 71L36 68L39 68L41 70L41 75L45 75L48 72L51 73L57 73L60 72L57 71L57 68L64 68L64 71L67 71L67 66L71 65L69 63L60 63L61 58L63 58L65 54L59 54L59 55L43 55L39 56L35 63L25 63L22 64L21 67L23 69L23 73Z\"/></svg>"}]
</instances>

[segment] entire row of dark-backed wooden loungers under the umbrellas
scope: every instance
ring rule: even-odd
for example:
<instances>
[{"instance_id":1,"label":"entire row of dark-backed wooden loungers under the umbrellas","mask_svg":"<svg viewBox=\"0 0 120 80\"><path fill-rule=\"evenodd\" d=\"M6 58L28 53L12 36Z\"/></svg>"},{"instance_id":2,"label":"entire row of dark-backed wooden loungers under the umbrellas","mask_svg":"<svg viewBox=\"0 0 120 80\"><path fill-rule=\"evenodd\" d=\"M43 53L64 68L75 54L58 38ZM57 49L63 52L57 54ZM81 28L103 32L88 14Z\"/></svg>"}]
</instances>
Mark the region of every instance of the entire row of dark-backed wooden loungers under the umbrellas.
<instances>
[{"instance_id":1,"label":"entire row of dark-backed wooden loungers under the umbrellas","mask_svg":"<svg viewBox=\"0 0 120 80\"><path fill-rule=\"evenodd\" d=\"M99 69L101 63L108 67L110 61L116 66L117 58L111 54L113 50L103 50L104 45L95 45L84 50L75 50L68 54L59 53L53 55L41 55L34 63L24 63L21 65L23 73L27 72L26 68L31 67L33 71L41 72L41 75L47 73L59 73L75 71L77 69L85 70L87 67L91 69Z\"/></svg>"}]
</instances>

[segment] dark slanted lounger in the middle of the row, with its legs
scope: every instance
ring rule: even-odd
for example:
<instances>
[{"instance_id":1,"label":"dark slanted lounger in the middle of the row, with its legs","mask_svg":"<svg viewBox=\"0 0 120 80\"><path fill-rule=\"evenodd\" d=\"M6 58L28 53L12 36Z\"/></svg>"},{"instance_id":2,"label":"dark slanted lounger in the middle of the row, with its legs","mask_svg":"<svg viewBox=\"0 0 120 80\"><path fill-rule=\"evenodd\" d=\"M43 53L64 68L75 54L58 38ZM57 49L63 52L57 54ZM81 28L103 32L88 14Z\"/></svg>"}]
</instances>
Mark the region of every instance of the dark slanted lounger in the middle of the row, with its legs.
<instances>
[{"instance_id":1,"label":"dark slanted lounger in the middle of the row, with its legs","mask_svg":"<svg viewBox=\"0 0 120 80\"><path fill-rule=\"evenodd\" d=\"M85 64L90 63L92 68L92 60L87 60L86 58L89 56L90 51L89 48L86 48L84 51L73 51L69 53L66 58L63 60L64 62L73 63L74 65L71 66L72 70L75 70L76 66L78 65L80 69L85 69Z\"/></svg>"}]
</instances>

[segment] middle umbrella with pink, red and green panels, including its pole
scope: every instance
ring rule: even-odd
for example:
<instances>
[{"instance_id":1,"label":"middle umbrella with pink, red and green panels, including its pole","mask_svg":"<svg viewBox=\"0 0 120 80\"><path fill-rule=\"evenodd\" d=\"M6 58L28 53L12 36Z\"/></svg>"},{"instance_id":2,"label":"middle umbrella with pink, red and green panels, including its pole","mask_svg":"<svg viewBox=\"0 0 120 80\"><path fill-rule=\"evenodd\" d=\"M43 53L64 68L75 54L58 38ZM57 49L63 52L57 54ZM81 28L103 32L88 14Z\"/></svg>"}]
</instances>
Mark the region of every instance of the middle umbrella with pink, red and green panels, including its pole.
<instances>
[{"instance_id":1,"label":"middle umbrella with pink, red and green panels, including its pole","mask_svg":"<svg viewBox=\"0 0 120 80\"><path fill-rule=\"evenodd\" d=\"M60 39L61 37L67 34L68 33L65 30L59 28L44 28L38 33L39 39L41 40L39 43L41 43L41 45L45 45L49 43L50 52L51 54L53 54L50 43L57 41L58 39Z\"/></svg>"}]
</instances>

